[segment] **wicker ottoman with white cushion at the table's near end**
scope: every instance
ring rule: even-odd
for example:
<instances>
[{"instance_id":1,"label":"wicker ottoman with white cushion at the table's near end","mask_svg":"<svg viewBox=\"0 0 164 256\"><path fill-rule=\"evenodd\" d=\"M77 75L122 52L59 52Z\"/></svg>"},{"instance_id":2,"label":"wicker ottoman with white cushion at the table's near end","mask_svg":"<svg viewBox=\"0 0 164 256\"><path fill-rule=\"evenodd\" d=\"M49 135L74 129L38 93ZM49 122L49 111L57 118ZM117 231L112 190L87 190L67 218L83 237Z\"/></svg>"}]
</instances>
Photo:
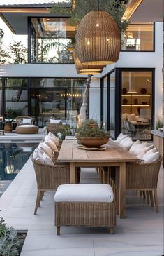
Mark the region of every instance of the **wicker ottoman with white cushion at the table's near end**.
<instances>
[{"instance_id":1,"label":"wicker ottoman with white cushion at the table's near end","mask_svg":"<svg viewBox=\"0 0 164 256\"><path fill-rule=\"evenodd\" d=\"M57 235L61 226L109 227L114 233L116 209L107 184L64 184L54 196Z\"/></svg>"}]
</instances>

